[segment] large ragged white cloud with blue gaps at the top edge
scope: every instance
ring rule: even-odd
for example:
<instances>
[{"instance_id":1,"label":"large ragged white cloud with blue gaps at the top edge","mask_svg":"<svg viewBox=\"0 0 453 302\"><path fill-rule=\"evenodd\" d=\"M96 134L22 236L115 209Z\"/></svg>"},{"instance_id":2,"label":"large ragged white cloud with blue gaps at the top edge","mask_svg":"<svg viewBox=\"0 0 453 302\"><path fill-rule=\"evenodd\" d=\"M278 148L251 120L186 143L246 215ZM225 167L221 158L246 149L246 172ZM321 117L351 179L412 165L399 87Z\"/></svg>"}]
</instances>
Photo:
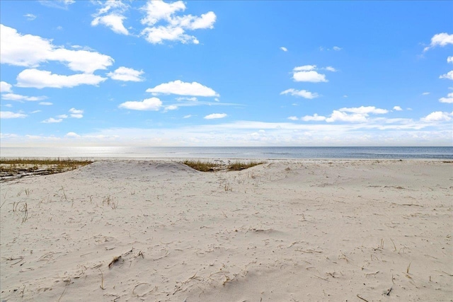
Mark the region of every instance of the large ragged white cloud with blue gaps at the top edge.
<instances>
[{"instance_id":1,"label":"large ragged white cloud with blue gaps at the top edge","mask_svg":"<svg viewBox=\"0 0 453 302\"><path fill-rule=\"evenodd\" d=\"M217 16L212 11L201 16L176 16L176 13L185 11L185 8L183 1L148 1L142 7L146 16L141 22L146 27L141 35L152 44L160 44L166 40L198 44L197 38L185 31L214 28Z\"/></svg>"}]
</instances>

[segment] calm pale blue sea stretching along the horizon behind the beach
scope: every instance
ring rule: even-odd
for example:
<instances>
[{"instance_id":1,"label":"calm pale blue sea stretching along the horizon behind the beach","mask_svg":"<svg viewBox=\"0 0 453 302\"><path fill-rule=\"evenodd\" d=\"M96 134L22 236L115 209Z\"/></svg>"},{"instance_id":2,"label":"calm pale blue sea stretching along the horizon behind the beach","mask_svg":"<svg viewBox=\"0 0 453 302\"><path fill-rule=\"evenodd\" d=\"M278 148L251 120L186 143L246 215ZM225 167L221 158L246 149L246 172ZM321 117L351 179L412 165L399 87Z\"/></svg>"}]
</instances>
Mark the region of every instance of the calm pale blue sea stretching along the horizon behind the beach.
<instances>
[{"instance_id":1,"label":"calm pale blue sea stretching along the horizon behind the beach","mask_svg":"<svg viewBox=\"0 0 453 302\"><path fill-rule=\"evenodd\" d=\"M2 147L0 156L8 158L453 159L453 147Z\"/></svg>"}]
</instances>

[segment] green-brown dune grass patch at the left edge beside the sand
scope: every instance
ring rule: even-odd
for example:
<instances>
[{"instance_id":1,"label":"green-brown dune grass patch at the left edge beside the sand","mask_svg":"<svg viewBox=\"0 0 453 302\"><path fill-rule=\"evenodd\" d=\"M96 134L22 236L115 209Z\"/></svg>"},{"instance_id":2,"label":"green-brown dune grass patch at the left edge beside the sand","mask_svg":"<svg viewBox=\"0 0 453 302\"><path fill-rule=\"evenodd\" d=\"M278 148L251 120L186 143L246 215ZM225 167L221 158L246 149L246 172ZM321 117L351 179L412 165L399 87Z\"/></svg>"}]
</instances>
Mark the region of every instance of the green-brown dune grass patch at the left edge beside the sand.
<instances>
[{"instance_id":1,"label":"green-brown dune grass patch at the left edge beside the sand","mask_svg":"<svg viewBox=\"0 0 453 302\"><path fill-rule=\"evenodd\" d=\"M93 163L62 158L0 158L0 179L62 173Z\"/></svg>"}]
</instances>

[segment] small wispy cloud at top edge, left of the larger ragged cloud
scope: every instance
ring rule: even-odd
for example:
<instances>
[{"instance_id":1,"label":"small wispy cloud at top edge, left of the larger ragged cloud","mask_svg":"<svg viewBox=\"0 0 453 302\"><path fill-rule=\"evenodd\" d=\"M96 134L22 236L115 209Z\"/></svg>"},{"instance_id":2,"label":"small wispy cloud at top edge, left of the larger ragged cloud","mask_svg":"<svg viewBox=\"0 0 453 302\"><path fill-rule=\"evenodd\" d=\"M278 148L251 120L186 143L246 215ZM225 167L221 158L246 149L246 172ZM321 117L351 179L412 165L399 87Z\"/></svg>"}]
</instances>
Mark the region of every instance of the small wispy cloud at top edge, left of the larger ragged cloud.
<instances>
[{"instance_id":1,"label":"small wispy cloud at top edge, left of the larger ragged cloud","mask_svg":"<svg viewBox=\"0 0 453 302\"><path fill-rule=\"evenodd\" d=\"M129 35L129 31L123 24L123 21L126 19L123 13L127 11L127 8L129 8L129 6L122 3L122 1L105 1L105 3L102 4L102 7L93 14L91 26L101 24L113 30L114 33Z\"/></svg>"}]
</instances>

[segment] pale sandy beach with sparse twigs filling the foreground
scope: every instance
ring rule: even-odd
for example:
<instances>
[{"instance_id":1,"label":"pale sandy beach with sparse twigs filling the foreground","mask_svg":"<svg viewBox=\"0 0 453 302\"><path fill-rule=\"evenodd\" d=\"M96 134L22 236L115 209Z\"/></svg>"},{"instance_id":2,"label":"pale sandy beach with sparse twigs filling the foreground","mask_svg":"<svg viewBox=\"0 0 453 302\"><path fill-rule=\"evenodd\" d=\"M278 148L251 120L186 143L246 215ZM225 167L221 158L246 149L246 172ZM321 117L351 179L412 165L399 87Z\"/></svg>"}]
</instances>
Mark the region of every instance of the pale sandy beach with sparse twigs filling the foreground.
<instances>
[{"instance_id":1,"label":"pale sandy beach with sparse twigs filling the foreground","mask_svg":"<svg viewBox=\"0 0 453 302\"><path fill-rule=\"evenodd\" d=\"M0 203L1 301L453 301L452 163L98 161Z\"/></svg>"}]
</instances>

